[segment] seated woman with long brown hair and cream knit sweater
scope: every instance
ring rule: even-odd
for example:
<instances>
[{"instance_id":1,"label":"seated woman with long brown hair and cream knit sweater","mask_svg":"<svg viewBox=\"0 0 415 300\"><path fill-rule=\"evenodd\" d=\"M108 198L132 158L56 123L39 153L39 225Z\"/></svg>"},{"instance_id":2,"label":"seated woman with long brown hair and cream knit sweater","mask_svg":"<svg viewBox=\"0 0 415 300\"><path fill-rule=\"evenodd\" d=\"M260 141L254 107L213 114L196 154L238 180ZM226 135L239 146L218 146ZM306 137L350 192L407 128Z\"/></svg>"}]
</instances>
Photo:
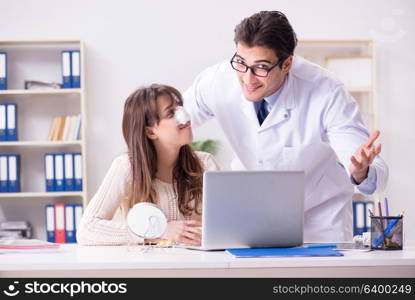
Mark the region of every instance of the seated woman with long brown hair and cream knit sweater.
<instances>
[{"instance_id":1,"label":"seated woman with long brown hair and cream knit sweater","mask_svg":"<svg viewBox=\"0 0 415 300\"><path fill-rule=\"evenodd\" d=\"M212 155L190 146L190 121L179 124L180 92L153 84L132 93L124 105L126 154L112 163L86 207L77 241L82 245L142 243L127 227L129 209L139 202L161 208L168 224L162 239L199 245L203 172L216 170Z\"/></svg>"}]
</instances>

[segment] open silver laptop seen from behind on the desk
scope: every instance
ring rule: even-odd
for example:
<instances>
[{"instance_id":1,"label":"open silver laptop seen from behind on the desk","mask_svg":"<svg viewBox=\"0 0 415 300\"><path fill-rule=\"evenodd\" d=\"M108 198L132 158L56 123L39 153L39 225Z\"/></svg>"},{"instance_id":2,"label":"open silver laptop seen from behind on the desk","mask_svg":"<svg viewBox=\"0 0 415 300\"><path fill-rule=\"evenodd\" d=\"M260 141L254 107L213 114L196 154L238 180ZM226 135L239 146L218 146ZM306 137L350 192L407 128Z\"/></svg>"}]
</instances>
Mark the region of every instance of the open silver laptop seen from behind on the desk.
<instances>
[{"instance_id":1,"label":"open silver laptop seen from behind on the desk","mask_svg":"<svg viewBox=\"0 0 415 300\"><path fill-rule=\"evenodd\" d=\"M295 247L303 243L304 172L208 171L196 250Z\"/></svg>"}]
</instances>

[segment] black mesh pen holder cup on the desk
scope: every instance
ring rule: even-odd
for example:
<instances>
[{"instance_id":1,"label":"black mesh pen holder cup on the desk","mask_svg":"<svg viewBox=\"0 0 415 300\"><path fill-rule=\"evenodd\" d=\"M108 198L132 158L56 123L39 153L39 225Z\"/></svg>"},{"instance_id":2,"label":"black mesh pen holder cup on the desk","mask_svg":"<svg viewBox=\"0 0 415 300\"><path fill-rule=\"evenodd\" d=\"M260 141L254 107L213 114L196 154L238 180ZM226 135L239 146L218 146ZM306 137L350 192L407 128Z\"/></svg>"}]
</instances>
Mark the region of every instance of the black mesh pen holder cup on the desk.
<instances>
[{"instance_id":1,"label":"black mesh pen holder cup on the desk","mask_svg":"<svg viewBox=\"0 0 415 300\"><path fill-rule=\"evenodd\" d=\"M371 216L370 248L375 250L402 250L403 217Z\"/></svg>"}]
</instances>

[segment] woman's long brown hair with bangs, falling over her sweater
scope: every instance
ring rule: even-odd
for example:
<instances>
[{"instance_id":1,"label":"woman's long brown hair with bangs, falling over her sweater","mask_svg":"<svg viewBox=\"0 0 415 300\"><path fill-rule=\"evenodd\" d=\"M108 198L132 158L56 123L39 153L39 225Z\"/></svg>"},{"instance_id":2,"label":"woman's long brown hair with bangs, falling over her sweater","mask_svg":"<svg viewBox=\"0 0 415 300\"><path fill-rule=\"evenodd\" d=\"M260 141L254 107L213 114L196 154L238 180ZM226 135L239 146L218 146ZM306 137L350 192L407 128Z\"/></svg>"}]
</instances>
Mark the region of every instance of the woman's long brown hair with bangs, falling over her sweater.
<instances>
[{"instance_id":1,"label":"woman's long brown hair with bangs, falling over her sweater","mask_svg":"<svg viewBox=\"0 0 415 300\"><path fill-rule=\"evenodd\" d=\"M178 105L183 99L173 87L152 84L136 90L126 100L122 130L128 146L132 170L132 185L127 197L127 207L138 202L156 203L157 195L153 181L157 173L157 152L153 141L146 135L146 127L160 122L157 113L157 98L169 96ZM173 169L173 187L178 197L178 206L184 216L199 211L202 202L203 167L190 145L180 148L176 166ZM194 200L194 206L190 201Z\"/></svg>"}]
</instances>

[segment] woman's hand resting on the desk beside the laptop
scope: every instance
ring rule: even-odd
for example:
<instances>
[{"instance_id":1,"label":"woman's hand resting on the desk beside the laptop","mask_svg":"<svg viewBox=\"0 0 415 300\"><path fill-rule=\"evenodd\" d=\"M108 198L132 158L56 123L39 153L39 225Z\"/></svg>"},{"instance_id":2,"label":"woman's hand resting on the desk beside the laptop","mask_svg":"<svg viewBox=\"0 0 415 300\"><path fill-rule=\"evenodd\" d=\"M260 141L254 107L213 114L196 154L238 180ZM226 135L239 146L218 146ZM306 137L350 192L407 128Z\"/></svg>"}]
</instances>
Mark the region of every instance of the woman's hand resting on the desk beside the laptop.
<instances>
[{"instance_id":1,"label":"woman's hand resting on the desk beside the laptop","mask_svg":"<svg viewBox=\"0 0 415 300\"><path fill-rule=\"evenodd\" d=\"M190 221L171 221L167 223L167 228L162 239L173 239L177 243L199 246L202 240L202 223L196 220Z\"/></svg>"}]
</instances>

